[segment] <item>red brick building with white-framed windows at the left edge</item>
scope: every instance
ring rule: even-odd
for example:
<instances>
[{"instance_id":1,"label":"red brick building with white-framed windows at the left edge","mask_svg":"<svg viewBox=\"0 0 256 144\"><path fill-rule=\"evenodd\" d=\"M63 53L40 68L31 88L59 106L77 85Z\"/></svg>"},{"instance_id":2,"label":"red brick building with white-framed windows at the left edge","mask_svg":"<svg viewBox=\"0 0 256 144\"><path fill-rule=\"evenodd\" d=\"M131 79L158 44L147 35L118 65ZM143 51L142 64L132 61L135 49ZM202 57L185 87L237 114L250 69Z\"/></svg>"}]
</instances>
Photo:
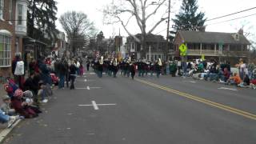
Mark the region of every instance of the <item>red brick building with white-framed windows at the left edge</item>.
<instances>
[{"instance_id":1,"label":"red brick building with white-framed windows at the left edge","mask_svg":"<svg viewBox=\"0 0 256 144\"><path fill-rule=\"evenodd\" d=\"M10 76L11 60L22 54L27 5L26 0L0 0L0 77Z\"/></svg>"}]
</instances>

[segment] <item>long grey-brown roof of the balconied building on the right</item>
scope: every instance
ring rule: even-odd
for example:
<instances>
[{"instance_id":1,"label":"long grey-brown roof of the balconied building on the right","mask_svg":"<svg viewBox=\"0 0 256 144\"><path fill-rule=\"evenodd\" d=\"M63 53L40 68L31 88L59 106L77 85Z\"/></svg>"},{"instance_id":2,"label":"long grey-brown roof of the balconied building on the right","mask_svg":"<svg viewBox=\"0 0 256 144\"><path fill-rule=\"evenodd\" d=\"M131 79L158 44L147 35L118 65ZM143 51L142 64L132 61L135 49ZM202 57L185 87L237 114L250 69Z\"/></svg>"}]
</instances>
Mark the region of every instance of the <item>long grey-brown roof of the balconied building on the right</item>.
<instances>
[{"instance_id":1,"label":"long grey-brown roof of the balconied building on the right","mask_svg":"<svg viewBox=\"0 0 256 144\"><path fill-rule=\"evenodd\" d=\"M189 31L180 30L182 39L185 42L200 42L200 43L227 43L227 44L246 44L250 42L242 34L239 34L239 40L234 39L236 33L219 33L219 32L202 32L202 31Z\"/></svg>"}]
</instances>

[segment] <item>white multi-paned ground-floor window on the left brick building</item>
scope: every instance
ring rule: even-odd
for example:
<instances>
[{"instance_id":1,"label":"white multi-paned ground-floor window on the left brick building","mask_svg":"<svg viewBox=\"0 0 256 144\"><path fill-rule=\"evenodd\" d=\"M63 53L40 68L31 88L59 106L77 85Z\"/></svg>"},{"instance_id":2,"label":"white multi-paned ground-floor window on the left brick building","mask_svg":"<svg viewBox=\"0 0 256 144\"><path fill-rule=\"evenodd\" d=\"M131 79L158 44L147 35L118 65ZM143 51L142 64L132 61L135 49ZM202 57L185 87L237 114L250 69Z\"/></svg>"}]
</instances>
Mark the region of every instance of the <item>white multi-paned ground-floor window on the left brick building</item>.
<instances>
[{"instance_id":1,"label":"white multi-paned ground-floor window on the left brick building","mask_svg":"<svg viewBox=\"0 0 256 144\"><path fill-rule=\"evenodd\" d=\"M0 35L0 67L10 66L10 41L10 37Z\"/></svg>"}]
</instances>

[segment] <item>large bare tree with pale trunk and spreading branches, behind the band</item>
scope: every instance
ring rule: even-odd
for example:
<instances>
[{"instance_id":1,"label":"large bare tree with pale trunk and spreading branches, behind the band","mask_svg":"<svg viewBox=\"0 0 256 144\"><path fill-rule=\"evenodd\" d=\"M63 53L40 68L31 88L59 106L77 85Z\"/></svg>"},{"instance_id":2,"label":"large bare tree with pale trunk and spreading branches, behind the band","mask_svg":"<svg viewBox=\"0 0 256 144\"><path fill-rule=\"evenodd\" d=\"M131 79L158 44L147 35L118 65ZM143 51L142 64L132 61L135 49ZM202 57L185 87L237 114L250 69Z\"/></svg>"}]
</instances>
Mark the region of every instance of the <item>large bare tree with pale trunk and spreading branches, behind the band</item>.
<instances>
[{"instance_id":1,"label":"large bare tree with pale trunk and spreading branches, behind the band","mask_svg":"<svg viewBox=\"0 0 256 144\"><path fill-rule=\"evenodd\" d=\"M113 0L103 10L104 22L106 24L113 24L120 22L126 33L132 36L135 41L141 44L142 56L146 54L146 34L152 33L160 23L164 22L167 17L168 4L167 0ZM172 5L173 6L173 5ZM159 13L160 14L159 17ZM156 14L158 17L155 17ZM149 22L152 23L152 19L157 21L153 26L149 26ZM141 32L141 38L132 34L128 30L128 26L134 24L134 21Z\"/></svg>"}]
</instances>

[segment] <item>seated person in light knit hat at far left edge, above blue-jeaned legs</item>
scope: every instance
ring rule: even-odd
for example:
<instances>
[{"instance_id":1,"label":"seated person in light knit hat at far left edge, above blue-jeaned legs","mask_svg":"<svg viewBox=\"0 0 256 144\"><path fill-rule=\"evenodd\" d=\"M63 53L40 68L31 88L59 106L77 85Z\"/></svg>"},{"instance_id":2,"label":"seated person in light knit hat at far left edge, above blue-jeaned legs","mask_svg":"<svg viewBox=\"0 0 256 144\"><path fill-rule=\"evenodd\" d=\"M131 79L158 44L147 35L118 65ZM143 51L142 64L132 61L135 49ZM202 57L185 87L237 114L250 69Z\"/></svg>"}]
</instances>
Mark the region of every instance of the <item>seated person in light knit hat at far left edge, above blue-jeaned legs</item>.
<instances>
[{"instance_id":1,"label":"seated person in light knit hat at far left edge, above blue-jeaned legs","mask_svg":"<svg viewBox=\"0 0 256 144\"><path fill-rule=\"evenodd\" d=\"M10 108L10 97L8 95L2 96L1 110L7 115L15 115L15 110Z\"/></svg>"}]
</instances>

